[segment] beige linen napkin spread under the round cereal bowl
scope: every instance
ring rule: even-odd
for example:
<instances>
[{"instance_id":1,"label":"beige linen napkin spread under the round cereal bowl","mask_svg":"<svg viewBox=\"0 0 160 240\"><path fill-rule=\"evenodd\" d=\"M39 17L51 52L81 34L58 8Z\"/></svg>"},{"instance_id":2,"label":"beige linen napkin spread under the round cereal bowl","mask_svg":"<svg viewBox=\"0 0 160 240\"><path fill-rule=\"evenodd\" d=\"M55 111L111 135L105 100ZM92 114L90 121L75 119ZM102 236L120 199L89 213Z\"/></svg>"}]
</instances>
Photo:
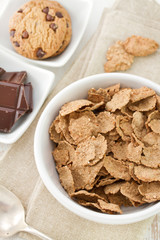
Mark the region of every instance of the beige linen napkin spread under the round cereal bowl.
<instances>
[{"instance_id":1,"label":"beige linen napkin spread under the round cereal bowl","mask_svg":"<svg viewBox=\"0 0 160 240\"><path fill-rule=\"evenodd\" d=\"M42 110L66 85L84 76L104 72L103 64L106 61L107 48L116 40L124 40L133 34L150 37L159 42L159 5L151 0L119 0L111 10L105 10L95 36L58 83ZM127 72L160 83L159 62L159 52L148 57L136 58ZM33 154L34 132L41 112L0 162L0 183L21 199L27 211L28 224L55 240L144 239L146 229L150 226L153 217L140 223L123 226L97 224L68 211L46 190L39 178ZM35 239L29 234L21 234L21 236Z\"/></svg>"}]
</instances>

